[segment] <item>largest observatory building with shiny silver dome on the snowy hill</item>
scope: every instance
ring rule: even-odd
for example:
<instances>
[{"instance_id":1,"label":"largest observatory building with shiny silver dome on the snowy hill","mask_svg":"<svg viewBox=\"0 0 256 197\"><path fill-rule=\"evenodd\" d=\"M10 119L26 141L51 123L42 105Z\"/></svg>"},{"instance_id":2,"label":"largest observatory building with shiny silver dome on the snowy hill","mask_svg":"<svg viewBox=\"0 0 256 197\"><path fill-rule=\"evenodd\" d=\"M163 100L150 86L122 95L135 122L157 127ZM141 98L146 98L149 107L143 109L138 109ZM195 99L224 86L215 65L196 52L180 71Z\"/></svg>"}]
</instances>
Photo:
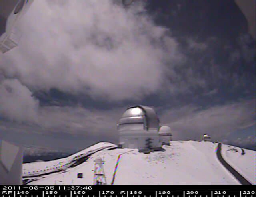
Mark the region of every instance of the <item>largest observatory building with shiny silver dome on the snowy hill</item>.
<instances>
[{"instance_id":1,"label":"largest observatory building with shiny silver dome on the snowy hill","mask_svg":"<svg viewBox=\"0 0 256 197\"><path fill-rule=\"evenodd\" d=\"M159 119L148 106L128 108L118 121L119 146L122 148L160 148Z\"/></svg>"}]
</instances>

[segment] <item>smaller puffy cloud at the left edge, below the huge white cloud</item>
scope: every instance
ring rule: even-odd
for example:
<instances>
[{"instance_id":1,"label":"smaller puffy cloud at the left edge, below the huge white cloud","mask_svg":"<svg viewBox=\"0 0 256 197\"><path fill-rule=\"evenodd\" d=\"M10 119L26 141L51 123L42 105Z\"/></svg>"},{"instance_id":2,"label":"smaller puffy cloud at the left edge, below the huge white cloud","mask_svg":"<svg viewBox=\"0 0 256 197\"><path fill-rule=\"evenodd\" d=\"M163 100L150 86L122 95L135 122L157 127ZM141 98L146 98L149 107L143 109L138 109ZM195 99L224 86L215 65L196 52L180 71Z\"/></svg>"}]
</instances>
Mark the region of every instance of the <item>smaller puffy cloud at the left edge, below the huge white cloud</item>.
<instances>
[{"instance_id":1,"label":"smaller puffy cloud at the left edge, below the huge white cloud","mask_svg":"<svg viewBox=\"0 0 256 197\"><path fill-rule=\"evenodd\" d=\"M17 79L0 81L0 116L18 122L37 122L38 100Z\"/></svg>"}]
</instances>

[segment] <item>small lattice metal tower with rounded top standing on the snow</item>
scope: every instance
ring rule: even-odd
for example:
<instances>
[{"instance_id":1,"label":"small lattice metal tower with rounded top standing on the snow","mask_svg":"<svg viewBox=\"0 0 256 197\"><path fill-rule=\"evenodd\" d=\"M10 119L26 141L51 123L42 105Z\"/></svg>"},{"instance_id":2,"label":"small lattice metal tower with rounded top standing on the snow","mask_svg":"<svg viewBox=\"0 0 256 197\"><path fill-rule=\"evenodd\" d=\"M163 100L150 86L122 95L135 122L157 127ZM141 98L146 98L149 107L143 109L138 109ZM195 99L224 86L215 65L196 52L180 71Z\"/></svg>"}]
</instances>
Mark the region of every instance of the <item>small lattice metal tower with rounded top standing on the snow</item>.
<instances>
[{"instance_id":1,"label":"small lattice metal tower with rounded top standing on the snow","mask_svg":"<svg viewBox=\"0 0 256 197\"><path fill-rule=\"evenodd\" d=\"M95 160L94 164L94 176L93 176L93 184L94 185L106 185L106 176L103 168L104 161L102 158L98 157Z\"/></svg>"}]
</instances>

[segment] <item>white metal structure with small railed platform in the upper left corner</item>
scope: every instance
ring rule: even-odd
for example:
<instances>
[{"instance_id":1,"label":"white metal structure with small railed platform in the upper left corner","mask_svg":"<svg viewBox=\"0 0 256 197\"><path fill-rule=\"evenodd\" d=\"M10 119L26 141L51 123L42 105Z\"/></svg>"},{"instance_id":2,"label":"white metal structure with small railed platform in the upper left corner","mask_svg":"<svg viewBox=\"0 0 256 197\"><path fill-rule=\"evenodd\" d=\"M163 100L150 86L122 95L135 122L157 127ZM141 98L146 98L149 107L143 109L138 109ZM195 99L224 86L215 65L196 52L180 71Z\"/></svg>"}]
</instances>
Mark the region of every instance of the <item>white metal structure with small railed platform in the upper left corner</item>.
<instances>
[{"instance_id":1,"label":"white metal structure with small railed platform in the upper left corner","mask_svg":"<svg viewBox=\"0 0 256 197\"><path fill-rule=\"evenodd\" d=\"M0 51L16 47L22 32L16 28L34 0L0 0Z\"/></svg>"}]
</instances>

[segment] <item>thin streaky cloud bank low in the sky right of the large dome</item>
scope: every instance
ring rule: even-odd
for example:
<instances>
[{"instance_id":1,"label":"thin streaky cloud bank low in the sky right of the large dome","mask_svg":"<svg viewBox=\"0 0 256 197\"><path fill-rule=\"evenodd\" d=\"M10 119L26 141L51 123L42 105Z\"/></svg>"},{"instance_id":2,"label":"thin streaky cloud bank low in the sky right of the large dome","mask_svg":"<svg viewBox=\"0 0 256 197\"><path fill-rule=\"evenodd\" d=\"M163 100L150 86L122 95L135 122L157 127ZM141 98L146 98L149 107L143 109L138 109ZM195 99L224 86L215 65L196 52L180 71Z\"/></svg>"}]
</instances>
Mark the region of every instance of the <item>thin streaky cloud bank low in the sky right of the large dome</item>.
<instances>
[{"instance_id":1,"label":"thin streaky cloud bank low in the sky right of the large dome","mask_svg":"<svg viewBox=\"0 0 256 197\"><path fill-rule=\"evenodd\" d=\"M176 139L199 139L208 133L221 140L234 130L252 126L254 113L254 100L244 100L206 109L193 105L168 109L160 120L172 128Z\"/></svg>"}]
</instances>

